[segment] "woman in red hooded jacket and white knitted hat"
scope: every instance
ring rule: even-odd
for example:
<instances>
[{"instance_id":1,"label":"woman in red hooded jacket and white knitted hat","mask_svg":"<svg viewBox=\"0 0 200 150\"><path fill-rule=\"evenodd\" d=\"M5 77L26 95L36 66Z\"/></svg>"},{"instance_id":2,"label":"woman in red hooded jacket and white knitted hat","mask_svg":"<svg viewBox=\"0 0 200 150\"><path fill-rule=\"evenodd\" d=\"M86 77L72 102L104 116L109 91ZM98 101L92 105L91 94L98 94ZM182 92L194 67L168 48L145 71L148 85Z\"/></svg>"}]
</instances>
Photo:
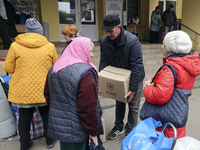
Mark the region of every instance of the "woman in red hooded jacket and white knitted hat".
<instances>
[{"instance_id":1,"label":"woman in red hooded jacket and white knitted hat","mask_svg":"<svg viewBox=\"0 0 200 150\"><path fill-rule=\"evenodd\" d=\"M172 65L177 74L176 88L192 90L196 77L200 74L199 54L191 52L192 41L183 31L172 31L166 34L162 50L163 64ZM163 105L169 101L174 91L174 75L168 66L162 67L154 83L151 79L145 82L144 96L154 105ZM161 127L158 128L161 131ZM184 137L186 126L176 128L177 138ZM166 128L164 134L167 138L174 138L172 128Z\"/></svg>"}]
</instances>

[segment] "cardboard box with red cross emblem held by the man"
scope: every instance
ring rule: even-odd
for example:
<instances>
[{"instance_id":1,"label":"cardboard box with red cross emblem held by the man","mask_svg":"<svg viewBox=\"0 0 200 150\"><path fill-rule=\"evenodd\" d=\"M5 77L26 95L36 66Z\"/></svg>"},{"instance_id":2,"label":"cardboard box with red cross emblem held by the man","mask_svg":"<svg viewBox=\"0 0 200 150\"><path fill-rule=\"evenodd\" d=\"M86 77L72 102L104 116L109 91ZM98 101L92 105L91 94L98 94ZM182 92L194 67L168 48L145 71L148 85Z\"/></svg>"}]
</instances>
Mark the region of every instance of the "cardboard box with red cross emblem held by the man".
<instances>
[{"instance_id":1,"label":"cardboard box with red cross emblem held by the man","mask_svg":"<svg viewBox=\"0 0 200 150\"><path fill-rule=\"evenodd\" d=\"M100 90L104 96L127 102L124 96L129 91L131 70L107 66L98 75Z\"/></svg>"}]
</instances>

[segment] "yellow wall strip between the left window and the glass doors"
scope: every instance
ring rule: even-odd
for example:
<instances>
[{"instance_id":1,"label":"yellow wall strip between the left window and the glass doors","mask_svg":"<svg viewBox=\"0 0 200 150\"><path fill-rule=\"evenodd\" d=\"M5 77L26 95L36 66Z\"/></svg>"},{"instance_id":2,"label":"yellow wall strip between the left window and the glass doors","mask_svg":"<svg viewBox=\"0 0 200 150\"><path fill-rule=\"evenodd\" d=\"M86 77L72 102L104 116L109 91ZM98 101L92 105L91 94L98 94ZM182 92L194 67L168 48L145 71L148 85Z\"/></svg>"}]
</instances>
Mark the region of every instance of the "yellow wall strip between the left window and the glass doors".
<instances>
[{"instance_id":1,"label":"yellow wall strip between the left window and the glass doors","mask_svg":"<svg viewBox=\"0 0 200 150\"><path fill-rule=\"evenodd\" d=\"M46 22L49 24L49 40L51 42L60 41L58 1L40 0L40 6L41 6L41 22Z\"/></svg>"}]
</instances>

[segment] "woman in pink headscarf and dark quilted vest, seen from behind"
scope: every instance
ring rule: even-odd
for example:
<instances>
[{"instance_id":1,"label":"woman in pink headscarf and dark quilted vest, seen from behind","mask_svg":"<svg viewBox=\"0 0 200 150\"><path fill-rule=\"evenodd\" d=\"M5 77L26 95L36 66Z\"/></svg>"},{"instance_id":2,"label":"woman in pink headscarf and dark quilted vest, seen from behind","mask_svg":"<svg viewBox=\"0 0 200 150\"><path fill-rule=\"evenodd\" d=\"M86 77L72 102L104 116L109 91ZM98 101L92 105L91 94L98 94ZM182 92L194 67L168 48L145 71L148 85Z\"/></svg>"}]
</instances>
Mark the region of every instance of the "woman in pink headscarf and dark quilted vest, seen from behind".
<instances>
[{"instance_id":1,"label":"woman in pink headscarf and dark quilted vest, seen from behind","mask_svg":"<svg viewBox=\"0 0 200 150\"><path fill-rule=\"evenodd\" d=\"M50 102L49 136L60 141L61 150L86 150L88 141L98 146L103 134L98 100L97 71L91 40L75 38L51 67L44 95Z\"/></svg>"}]
</instances>

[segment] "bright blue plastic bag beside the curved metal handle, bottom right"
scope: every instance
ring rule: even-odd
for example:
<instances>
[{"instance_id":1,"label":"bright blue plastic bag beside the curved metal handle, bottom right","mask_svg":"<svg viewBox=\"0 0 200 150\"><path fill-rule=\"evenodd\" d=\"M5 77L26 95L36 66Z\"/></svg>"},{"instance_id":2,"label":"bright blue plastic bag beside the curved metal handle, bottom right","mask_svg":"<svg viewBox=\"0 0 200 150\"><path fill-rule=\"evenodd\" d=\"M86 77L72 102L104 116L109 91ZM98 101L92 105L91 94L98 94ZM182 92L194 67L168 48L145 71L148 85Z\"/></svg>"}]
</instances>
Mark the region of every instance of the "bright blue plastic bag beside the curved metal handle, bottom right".
<instances>
[{"instance_id":1,"label":"bright blue plastic bag beside the curved metal handle, bottom right","mask_svg":"<svg viewBox=\"0 0 200 150\"><path fill-rule=\"evenodd\" d=\"M174 139L166 138L163 132L155 130L161 126L161 122L153 118L141 121L123 139L121 150L171 150Z\"/></svg>"}]
</instances>

